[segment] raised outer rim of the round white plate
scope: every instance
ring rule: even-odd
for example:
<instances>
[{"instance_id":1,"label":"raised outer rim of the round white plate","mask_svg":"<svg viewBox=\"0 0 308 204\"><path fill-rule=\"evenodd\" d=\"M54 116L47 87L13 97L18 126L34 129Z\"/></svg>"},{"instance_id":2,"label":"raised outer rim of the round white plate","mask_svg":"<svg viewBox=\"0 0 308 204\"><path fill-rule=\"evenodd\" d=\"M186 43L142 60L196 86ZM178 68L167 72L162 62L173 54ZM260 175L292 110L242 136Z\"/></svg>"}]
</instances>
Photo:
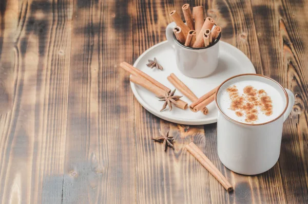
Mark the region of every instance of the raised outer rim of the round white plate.
<instances>
[{"instance_id":1,"label":"raised outer rim of the round white plate","mask_svg":"<svg viewBox=\"0 0 308 204\"><path fill-rule=\"evenodd\" d=\"M136 65L140 62L140 60L144 57L145 54L147 54L149 51L151 51L152 49L155 49L156 47L159 47L160 45L163 45L165 43L168 43L168 41L163 41L160 42L156 45L153 45L152 47L148 48L147 50L145 50L139 57L138 59L133 63L133 66L136 67ZM244 52L242 52L240 49L238 49L237 47L226 43L224 41L220 41L220 44L223 46L229 46L232 49L236 49L241 55L243 55L244 58L246 58L249 63L251 64L251 66L249 66L251 70L249 71L253 71L253 72L247 72L247 73L256 73L256 68L253 65L252 61L246 56L246 54ZM220 45L220 46L221 46ZM136 67L137 68L137 67ZM131 75L130 75L131 76ZM129 76L129 77L130 77ZM138 94L137 89L136 89L136 85L132 82L130 82L130 88L132 90L132 93L134 95L134 97L137 99L137 101L140 103L140 105L142 107L144 107L148 112L150 112L151 114L169 121L169 122L174 122L174 123L178 123L178 124L186 124L186 125L205 125L205 124L211 124L211 123L215 123L217 122L217 118L218 117L210 117L210 118L203 118L203 119L180 119L177 117L169 117L169 116L164 116L161 114L161 112L159 112L158 110L153 109L150 105L148 105Z\"/></svg>"}]
</instances>

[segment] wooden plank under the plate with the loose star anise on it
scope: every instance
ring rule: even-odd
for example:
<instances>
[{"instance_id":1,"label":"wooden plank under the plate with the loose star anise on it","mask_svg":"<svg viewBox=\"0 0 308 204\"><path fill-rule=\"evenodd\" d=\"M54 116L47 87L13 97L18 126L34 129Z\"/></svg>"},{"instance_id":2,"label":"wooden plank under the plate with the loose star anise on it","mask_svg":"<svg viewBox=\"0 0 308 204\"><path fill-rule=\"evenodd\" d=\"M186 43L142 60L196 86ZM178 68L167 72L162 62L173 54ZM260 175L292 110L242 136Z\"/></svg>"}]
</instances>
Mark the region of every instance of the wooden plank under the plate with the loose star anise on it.
<instances>
[{"instance_id":1,"label":"wooden plank under the plate with the loose star anise on it","mask_svg":"<svg viewBox=\"0 0 308 204\"><path fill-rule=\"evenodd\" d=\"M181 11L184 1L175 4L134 1L134 59L149 47L164 41L165 28L171 22L168 13ZM133 63L133 61L131 61ZM184 148L191 141L204 141L203 126L182 126L160 120L135 100L136 193L137 203L211 203L209 175ZM170 131L175 149L163 150L161 143L150 138ZM213 135L214 136L214 135Z\"/></svg>"}]
</instances>

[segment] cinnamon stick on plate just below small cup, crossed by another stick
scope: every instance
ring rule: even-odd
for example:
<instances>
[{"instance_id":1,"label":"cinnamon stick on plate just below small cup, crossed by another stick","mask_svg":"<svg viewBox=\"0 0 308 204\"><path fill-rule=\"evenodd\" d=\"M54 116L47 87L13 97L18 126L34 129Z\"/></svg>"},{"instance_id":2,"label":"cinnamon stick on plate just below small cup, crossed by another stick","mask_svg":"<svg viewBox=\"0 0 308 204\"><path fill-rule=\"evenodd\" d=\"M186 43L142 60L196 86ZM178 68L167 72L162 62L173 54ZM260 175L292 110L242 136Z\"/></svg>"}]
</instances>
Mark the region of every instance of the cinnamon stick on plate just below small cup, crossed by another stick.
<instances>
[{"instance_id":1,"label":"cinnamon stick on plate just below small cup, crossed by another stick","mask_svg":"<svg viewBox=\"0 0 308 204\"><path fill-rule=\"evenodd\" d=\"M174 73L171 73L171 75L168 76L167 79L191 102L198 101L198 97ZM208 109L206 108L206 106L204 106L202 112L204 115L208 114Z\"/></svg>"}]
</instances>

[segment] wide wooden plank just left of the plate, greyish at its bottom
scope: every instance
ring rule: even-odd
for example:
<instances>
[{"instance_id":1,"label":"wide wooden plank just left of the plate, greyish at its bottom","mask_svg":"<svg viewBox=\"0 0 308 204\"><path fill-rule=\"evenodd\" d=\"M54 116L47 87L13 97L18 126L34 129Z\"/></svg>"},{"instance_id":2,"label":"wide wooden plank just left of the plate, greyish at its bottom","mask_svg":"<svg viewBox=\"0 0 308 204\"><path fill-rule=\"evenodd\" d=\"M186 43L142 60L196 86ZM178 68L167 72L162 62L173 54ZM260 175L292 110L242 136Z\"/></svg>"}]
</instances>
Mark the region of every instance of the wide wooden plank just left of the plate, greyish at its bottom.
<instances>
[{"instance_id":1,"label":"wide wooden plank just left of the plate, greyish at its bottom","mask_svg":"<svg viewBox=\"0 0 308 204\"><path fill-rule=\"evenodd\" d=\"M75 1L63 203L134 203L128 5Z\"/></svg>"}]
</instances>

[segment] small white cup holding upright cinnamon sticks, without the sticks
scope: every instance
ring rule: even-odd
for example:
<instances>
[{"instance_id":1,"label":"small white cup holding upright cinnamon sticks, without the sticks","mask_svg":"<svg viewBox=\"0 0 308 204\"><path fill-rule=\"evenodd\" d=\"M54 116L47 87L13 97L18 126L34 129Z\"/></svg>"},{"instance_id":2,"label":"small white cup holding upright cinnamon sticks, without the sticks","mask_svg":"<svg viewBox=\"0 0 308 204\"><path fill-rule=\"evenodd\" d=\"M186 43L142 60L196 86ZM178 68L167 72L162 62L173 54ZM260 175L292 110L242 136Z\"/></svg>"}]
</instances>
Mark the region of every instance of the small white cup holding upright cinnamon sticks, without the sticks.
<instances>
[{"instance_id":1,"label":"small white cup holding upright cinnamon sticks, without the sticks","mask_svg":"<svg viewBox=\"0 0 308 204\"><path fill-rule=\"evenodd\" d=\"M209 76L215 71L218 65L219 34L217 41L204 48L191 48L182 45L174 35L173 29L177 25L172 22L166 28L168 43L176 53L176 63L183 75L192 78Z\"/></svg>"}]
</instances>

